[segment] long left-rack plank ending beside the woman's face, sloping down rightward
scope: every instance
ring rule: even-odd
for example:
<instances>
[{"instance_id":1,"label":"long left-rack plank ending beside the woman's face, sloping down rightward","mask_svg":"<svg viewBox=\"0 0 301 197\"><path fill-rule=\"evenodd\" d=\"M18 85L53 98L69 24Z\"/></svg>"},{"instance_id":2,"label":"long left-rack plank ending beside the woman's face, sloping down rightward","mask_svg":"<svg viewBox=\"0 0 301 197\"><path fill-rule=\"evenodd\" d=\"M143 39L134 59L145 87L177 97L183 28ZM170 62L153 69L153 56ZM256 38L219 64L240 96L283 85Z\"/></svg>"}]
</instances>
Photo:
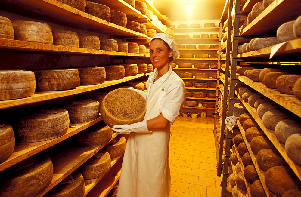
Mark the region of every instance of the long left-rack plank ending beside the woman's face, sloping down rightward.
<instances>
[{"instance_id":1,"label":"long left-rack plank ending beside the woman's face, sloping down rightward","mask_svg":"<svg viewBox=\"0 0 301 197\"><path fill-rule=\"evenodd\" d=\"M51 45L39 42L28 42L0 38L0 50L2 51L22 51L35 53L52 53L64 55L101 55L101 56L129 56L129 57L149 57L146 54L123 53L115 51L104 51L78 47L68 47L62 45Z\"/></svg>"}]
</instances>

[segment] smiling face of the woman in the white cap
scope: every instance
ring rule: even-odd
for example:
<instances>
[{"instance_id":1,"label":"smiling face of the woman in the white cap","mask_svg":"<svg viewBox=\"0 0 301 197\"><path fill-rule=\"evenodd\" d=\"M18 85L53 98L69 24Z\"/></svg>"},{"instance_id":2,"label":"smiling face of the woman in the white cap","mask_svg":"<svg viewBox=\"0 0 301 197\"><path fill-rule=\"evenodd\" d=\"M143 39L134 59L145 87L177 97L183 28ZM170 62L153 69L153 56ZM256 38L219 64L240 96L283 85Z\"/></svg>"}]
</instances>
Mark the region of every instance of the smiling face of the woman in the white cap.
<instances>
[{"instance_id":1,"label":"smiling face of the woman in the white cap","mask_svg":"<svg viewBox=\"0 0 301 197\"><path fill-rule=\"evenodd\" d=\"M169 57L172 57L172 51L168 51L167 46L161 39L155 39L150 43L150 59L154 68L160 69L169 65Z\"/></svg>"}]
</instances>

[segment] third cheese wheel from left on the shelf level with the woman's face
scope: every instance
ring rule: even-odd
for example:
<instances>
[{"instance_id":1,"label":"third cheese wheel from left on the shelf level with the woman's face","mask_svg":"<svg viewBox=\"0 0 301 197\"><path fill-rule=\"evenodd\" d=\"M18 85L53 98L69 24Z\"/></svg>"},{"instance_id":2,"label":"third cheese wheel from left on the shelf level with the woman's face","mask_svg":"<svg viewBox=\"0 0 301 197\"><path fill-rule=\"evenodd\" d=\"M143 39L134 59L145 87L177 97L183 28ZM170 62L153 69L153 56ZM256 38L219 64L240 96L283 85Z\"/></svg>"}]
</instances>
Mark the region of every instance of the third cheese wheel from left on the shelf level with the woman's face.
<instances>
[{"instance_id":1,"label":"third cheese wheel from left on the shelf level with the woman's face","mask_svg":"<svg viewBox=\"0 0 301 197\"><path fill-rule=\"evenodd\" d=\"M52 35L54 45L79 47L79 38L76 32L54 30Z\"/></svg>"}]
</instances>

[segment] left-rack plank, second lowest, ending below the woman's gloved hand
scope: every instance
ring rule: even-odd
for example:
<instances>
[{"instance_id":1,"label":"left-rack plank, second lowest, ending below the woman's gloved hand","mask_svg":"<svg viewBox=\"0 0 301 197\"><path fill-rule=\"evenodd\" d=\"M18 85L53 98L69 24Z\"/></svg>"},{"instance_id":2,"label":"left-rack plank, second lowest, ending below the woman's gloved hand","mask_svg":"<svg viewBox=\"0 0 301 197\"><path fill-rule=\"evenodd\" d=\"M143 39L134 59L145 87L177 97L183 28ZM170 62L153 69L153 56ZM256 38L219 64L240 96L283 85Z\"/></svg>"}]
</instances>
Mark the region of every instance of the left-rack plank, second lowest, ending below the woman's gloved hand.
<instances>
[{"instance_id":1,"label":"left-rack plank, second lowest, ending below the woman's gloved hand","mask_svg":"<svg viewBox=\"0 0 301 197\"><path fill-rule=\"evenodd\" d=\"M111 140L113 140L117 135L118 133L113 133ZM53 163L53 177L51 183L43 192L36 195L36 197L45 195L54 186L76 170L76 168L81 166L95 153L100 151L106 144L91 147L74 147L64 150L54 156L50 156Z\"/></svg>"}]
</instances>

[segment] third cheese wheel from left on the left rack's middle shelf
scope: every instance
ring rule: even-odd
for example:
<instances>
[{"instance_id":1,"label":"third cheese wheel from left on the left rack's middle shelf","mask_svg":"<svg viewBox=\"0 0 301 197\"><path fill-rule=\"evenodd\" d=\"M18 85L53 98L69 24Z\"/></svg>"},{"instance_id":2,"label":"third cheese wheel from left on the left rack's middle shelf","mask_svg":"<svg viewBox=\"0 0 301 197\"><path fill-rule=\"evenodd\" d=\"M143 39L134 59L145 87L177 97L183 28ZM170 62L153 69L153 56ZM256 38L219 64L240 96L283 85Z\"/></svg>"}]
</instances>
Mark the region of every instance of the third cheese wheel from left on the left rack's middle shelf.
<instances>
[{"instance_id":1,"label":"third cheese wheel from left on the left rack's middle shelf","mask_svg":"<svg viewBox=\"0 0 301 197\"><path fill-rule=\"evenodd\" d=\"M77 67L80 85L101 84L106 80L104 67Z\"/></svg>"}]
</instances>

